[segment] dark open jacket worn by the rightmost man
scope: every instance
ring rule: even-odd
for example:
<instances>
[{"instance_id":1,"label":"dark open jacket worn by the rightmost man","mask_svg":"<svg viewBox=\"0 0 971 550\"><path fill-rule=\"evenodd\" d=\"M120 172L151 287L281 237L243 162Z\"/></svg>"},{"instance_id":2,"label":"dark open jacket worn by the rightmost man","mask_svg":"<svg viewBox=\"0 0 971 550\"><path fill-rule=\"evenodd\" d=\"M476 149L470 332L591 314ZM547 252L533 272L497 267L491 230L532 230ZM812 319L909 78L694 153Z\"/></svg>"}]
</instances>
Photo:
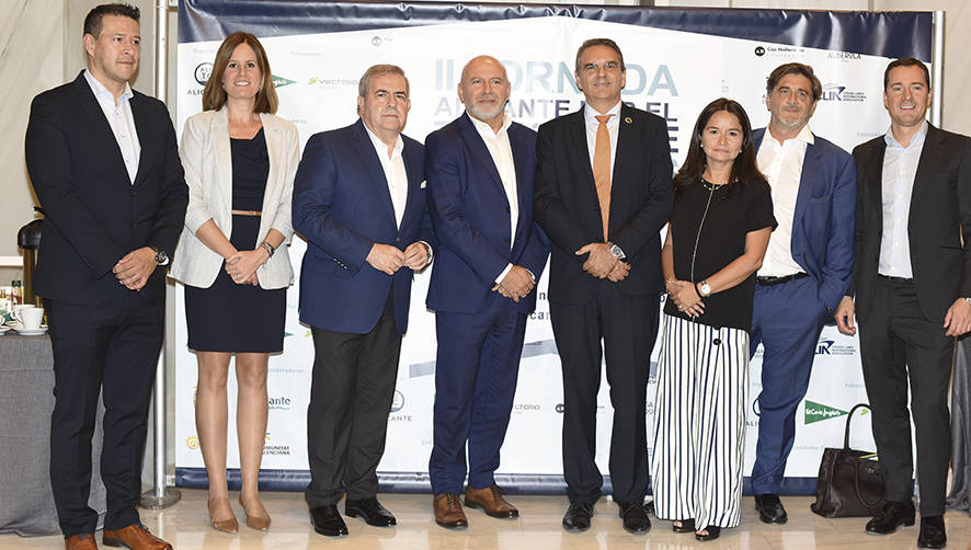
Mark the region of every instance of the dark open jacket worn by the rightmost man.
<instances>
[{"instance_id":1,"label":"dark open jacket worn by the rightmost man","mask_svg":"<svg viewBox=\"0 0 971 550\"><path fill-rule=\"evenodd\" d=\"M865 322L875 300L883 241L883 135L858 145L857 219L853 286ZM961 234L964 241L961 242ZM927 126L911 195L907 237L921 310L944 324L959 296L971 296L971 139Z\"/></svg>"}]
</instances>

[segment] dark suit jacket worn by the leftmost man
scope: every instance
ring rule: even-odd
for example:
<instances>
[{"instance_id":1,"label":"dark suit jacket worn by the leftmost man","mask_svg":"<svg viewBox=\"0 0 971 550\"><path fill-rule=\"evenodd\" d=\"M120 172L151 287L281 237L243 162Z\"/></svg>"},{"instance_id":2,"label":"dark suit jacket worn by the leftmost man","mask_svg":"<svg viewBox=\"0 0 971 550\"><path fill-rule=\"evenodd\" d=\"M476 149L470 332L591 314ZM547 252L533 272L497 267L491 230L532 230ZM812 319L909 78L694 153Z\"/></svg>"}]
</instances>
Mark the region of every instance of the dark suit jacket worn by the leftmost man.
<instances>
[{"instance_id":1,"label":"dark suit jacket worn by the leftmost man","mask_svg":"<svg viewBox=\"0 0 971 550\"><path fill-rule=\"evenodd\" d=\"M132 293L112 267L125 254L156 247L169 257L182 232L189 187L165 104L133 90L138 173L128 176L118 142L83 71L31 104L27 171L44 207L37 294L76 303L117 300ZM138 295L165 297L165 267Z\"/></svg>"}]
</instances>

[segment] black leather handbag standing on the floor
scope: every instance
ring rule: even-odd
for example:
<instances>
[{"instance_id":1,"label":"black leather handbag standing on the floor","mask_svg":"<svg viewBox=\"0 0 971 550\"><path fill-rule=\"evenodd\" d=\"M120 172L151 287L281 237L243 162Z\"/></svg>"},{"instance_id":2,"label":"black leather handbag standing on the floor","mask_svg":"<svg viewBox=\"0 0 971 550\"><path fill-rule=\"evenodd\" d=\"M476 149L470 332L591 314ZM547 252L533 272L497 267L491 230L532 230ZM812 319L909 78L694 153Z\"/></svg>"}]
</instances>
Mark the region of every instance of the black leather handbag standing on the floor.
<instances>
[{"instance_id":1,"label":"black leather handbag standing on the floor","mask_svg":"<svg viewBox=\"0 0 971 550\"><path fill-rule=\"evenodd\" d=\"M820 475L815 486L813 512L824 517L872 517L883 506L886 485L880 462L870 458L872 452L849 448L849 422L859 403L846 415L843 448L823 450Z\"/></svg>"}]
</instances>

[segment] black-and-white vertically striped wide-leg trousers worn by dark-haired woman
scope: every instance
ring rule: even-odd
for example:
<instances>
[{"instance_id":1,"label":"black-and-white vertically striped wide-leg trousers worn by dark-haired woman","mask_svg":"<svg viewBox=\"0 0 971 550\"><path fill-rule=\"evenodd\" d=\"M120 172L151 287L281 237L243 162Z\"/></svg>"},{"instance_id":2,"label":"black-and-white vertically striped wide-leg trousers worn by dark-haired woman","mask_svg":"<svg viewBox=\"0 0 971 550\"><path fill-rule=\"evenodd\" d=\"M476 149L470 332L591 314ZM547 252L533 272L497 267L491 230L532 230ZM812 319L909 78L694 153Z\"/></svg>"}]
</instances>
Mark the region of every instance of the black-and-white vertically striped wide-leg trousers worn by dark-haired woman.
<instances>
[{"instance_id":1,"label":"black-and-white vertically striped wide-leg trousers worn by dark-haired woman","mask_svg":"<svg viewBox=\"0 0 971 550\"><path fill-rule=\"evenodd\" d=\"M655 515L739 525L749 333L664 316L651 477Z\"/></svg>"}]
</instances>

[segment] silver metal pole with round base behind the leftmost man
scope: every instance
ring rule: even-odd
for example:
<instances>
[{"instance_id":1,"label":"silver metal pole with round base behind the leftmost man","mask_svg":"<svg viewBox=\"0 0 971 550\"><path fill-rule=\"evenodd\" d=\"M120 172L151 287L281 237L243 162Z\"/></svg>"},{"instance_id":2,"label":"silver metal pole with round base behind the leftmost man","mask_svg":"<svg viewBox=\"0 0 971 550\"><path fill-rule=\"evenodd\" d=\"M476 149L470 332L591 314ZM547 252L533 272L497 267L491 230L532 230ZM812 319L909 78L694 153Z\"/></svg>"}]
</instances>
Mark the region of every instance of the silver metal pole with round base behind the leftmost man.
<instances>
[{"instance_id":1,"label":"silver metal pole with round base behind the leftmost man","mask_svg":"<svg viewBox=\"0 0 971 550\"><path fill-rule=\"evenodd\" d=\"M168 96L168 60L169 60L169 5L167 0L156 0L156 98L165 103ZM168 298L168 288L167 288ZM169 300L167 300L168 302ZM165 306L169 313L169 305ZM168 322L167 322L168 324ZM167 331L168 332L168 331ZM156 386L152 403L155 422L155 489L141 494L139 505L146 509L168 508L182 499L178 489L169 489L165 483L167 445L165 445L165 350L162 347L159 365L156 369Z\"/></svg>"}]
</instances>

